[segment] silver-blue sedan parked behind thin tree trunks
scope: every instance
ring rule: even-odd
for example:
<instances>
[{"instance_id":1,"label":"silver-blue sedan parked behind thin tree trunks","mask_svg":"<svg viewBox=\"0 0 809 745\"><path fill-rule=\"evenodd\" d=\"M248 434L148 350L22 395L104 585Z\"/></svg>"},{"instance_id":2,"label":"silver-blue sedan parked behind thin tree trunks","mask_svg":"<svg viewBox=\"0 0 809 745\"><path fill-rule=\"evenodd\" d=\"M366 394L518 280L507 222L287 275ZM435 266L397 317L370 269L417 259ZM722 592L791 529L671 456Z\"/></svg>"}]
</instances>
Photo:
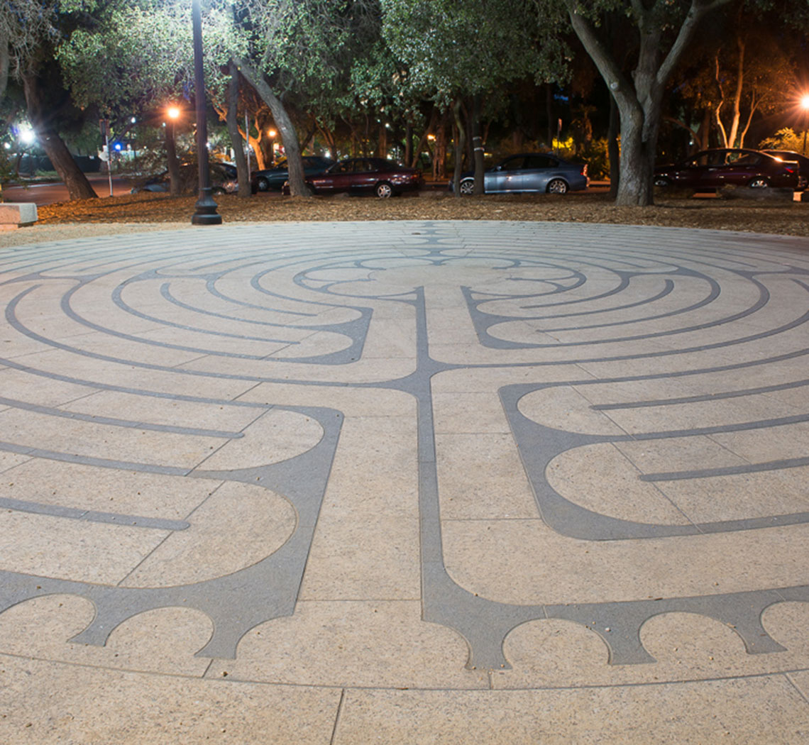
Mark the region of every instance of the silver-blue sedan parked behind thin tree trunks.
<instances>
[{"instance_id":1,"label":"silver-blue sedan parked behind thin tree trunks","mask_svg":"<svg viewBox=\"0 0 809 745\"><path fill-rule=\"evenodd\" d=\"M461 175L460 193L471 194L475 188L472 171ZM540 192L566 194L587 188L587 163L568 163L552 153L510 155L483 174L483 190L487 194L503 192ZM453 190L450 182L450 191Z\"/></svg>"}]
</instances>

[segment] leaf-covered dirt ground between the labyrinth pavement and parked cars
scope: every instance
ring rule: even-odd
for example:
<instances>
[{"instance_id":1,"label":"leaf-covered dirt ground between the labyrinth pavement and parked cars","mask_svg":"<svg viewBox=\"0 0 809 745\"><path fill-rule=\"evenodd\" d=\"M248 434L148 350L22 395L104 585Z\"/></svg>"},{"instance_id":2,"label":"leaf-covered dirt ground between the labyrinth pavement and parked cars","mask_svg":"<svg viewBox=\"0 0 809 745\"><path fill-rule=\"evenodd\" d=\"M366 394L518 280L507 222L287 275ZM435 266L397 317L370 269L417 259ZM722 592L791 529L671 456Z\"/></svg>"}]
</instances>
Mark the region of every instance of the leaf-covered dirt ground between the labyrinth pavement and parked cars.
<instances>
[{"instance_id":1,"label":"leaf-covered dirt ground between the labyrinth pavement and parked cars","mask_svg":"<svg viewBox=\"0 0 809 745\"><path fill-rule=\"evenodd\" d=\"M0 234L0 246L131 230L190 225L196 197L141 193L40 207L32 228ZM616 207L606 193L464 197L433 190L374 197L216 197L222 221L527 220L659 225L809 237L809 202L660 195L652 207ZM14 236L10 234L15 234Z\"/></svg>"}]
</instances>

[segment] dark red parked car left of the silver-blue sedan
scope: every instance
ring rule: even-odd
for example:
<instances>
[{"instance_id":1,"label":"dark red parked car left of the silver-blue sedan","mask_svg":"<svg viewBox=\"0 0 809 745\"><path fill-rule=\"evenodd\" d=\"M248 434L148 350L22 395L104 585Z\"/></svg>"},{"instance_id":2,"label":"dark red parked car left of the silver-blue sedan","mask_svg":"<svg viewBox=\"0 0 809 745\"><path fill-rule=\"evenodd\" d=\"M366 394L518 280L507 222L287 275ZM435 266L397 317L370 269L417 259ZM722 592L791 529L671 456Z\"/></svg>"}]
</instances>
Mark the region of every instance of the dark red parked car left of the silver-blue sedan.
<instances>
[{"instance_id":1,"label":"dark red parked car left of the silver-blue sedan","mask_svg":"<svg viewBox=\"0 0 809 745\"><path fill-rule=\"evenodd\" d=\"M421 171L383 158L349 158L338 161L320 176L307 176L307 186L316 194L348 192L394 197L421 187ZM289 187L285 187L289 193Z\"/></svg>"}]
</instances>

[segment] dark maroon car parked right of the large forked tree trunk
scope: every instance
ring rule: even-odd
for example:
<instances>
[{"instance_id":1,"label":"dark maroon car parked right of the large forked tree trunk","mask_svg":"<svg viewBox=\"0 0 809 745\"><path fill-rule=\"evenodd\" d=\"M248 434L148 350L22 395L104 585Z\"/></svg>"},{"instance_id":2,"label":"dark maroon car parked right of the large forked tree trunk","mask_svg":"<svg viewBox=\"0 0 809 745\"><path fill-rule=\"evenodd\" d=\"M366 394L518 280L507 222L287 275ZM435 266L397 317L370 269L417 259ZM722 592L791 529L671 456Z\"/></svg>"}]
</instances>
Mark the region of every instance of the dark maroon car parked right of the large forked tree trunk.
<instances>
[{"instance_id":1,"label":"dark maroon car parked right of the large forked tree trunk","mask_svg":"<svg viewBox=\"0 0 809 745\"><path fill-rule=\"evenodd\" d=\"M673 166L654 169L654 185L717 188L726 184L751 188L798 186L798 163L785 162L759 150L702 150Z\"/></svg>"}]
</instances>

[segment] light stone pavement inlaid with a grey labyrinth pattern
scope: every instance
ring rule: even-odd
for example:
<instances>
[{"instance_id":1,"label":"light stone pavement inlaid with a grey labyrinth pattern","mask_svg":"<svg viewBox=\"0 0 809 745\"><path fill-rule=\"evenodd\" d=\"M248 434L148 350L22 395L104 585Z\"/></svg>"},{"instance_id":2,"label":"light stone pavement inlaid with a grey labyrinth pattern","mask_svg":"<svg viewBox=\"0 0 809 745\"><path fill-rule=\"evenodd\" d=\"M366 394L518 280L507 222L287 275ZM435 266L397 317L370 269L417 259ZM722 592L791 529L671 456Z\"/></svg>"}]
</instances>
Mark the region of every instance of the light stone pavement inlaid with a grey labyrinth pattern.
<instances>
[{"instance_id":1,"label":"light stone pavement inlaid with a grey labyrinth pattern","mask_svg":"<svg viewBox=\"0 0 809 745\"><path fill-rule=\"evenodd\" d=\"M0 303L3 745L809 740L806 239L92 235Z\"/></svg>"}]
</instances>

